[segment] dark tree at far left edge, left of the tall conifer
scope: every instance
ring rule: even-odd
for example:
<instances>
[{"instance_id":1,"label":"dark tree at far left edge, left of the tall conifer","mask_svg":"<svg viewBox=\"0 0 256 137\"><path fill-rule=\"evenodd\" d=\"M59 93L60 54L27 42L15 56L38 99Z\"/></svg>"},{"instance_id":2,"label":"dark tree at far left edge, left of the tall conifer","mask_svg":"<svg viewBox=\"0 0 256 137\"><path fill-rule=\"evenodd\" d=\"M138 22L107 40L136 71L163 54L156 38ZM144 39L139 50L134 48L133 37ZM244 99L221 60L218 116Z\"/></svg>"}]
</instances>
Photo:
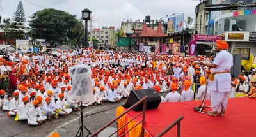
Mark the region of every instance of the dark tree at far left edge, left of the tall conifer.
<instances>
[{"instance_id":1,"label":"dark tree at far left edge, left of the tall conifer","mask_svg":"<svg viewBox=\"0 0 256 137\"><path fill-rule=\"evenodd\" d=\"M11 19L4 19L3 20L3 25L0 25L1 29L4 31L4 40L7 41L7 44L10 44L10 40L12 39L12 32L11 32Z\"/></svg>"}]
</instances>

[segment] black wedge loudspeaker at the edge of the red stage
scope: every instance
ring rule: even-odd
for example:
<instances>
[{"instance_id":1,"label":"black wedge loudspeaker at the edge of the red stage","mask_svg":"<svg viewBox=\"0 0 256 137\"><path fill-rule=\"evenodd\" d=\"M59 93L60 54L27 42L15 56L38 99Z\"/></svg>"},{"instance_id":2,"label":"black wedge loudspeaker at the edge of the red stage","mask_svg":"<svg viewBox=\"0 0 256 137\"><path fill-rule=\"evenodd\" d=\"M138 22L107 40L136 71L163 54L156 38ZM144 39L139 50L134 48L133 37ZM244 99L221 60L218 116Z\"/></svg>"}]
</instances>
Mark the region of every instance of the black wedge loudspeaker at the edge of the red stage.
<instances>
[{"instance_id":1,"label":"black wedge loudspeaker at the edge of the red stage","mask_svg":"<svg viewBox=\"0 0 256 137\"><path fill-rule=\"evenodd\" d=\"M161 103L161 96L154 89L142 89L142 90L131 90L129 97L127 99L126 105L127 107L131 107L143 97L148 96L147 99L147 107L146 109L158 108ZM143 103L136 106L132 110L141 111L143 110Z\"/></svg>"}]
</instances>

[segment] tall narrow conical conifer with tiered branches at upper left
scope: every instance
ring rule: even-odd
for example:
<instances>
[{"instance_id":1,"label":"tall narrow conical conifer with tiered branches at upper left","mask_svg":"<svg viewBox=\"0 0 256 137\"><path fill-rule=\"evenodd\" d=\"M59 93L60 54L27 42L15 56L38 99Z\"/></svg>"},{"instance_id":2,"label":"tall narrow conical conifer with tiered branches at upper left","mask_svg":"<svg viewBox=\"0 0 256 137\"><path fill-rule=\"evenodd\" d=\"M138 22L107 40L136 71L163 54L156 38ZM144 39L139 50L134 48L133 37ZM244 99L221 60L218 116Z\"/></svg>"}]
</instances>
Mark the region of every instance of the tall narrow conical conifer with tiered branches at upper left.
<instances>
[{"instance_id":1,"label":"tall narrow conical conifer with tiered branches at upper left","mask_svg":"<svg viewBox=\"0 0 256 137\"><path fill-rule=\"evenodd\" d=\"M25 18L25 11L23 8L22 1L19 1L17 9L12 18L12 33L13 37L16 39L23 39L24 38L24 30L26 28L26 18Z\"/></svg>"}]
</instances>

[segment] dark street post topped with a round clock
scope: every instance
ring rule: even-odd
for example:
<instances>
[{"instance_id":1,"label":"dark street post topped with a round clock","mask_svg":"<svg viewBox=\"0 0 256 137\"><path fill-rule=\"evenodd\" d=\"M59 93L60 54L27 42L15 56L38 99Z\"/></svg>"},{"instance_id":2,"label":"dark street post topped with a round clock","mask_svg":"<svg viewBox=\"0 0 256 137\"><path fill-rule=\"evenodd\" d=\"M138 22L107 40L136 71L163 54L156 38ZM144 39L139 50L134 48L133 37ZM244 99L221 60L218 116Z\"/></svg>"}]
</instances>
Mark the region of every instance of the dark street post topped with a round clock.
<instances>
[{"instance_id":1,"label":"dark street post topped with a round clock","mask_svg":"<svg viewBox=\"0 0 256 137\"><path fill-rule=\"evenodd\" d=\"M85 8L82 12L82 19L84 20L84 46L88 48L88 20L91 19L91 11L88 8Z\"/></svg>"}]
</instances>

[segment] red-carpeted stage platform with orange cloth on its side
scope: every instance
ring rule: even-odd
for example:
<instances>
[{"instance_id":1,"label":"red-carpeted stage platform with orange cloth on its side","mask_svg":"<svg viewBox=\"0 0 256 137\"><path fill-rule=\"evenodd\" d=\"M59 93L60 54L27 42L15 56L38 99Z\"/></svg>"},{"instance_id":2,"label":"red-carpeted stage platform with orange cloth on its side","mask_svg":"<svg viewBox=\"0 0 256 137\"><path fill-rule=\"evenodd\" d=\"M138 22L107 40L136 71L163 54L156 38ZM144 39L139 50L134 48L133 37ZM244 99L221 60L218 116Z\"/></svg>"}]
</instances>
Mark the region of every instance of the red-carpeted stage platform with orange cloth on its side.
<instances>
[{"instance_id":1,"label":"red-carpeted stage platform with orange cloth on its side","mask_svg":"<svg viewBox=\"0 0 256 137\"><path fill-rule=\"evenodd\" d=\"M156 136L165 127L171 124L179 116L183 116L181 121L182 137L249 137L255 135L256 125L256 99L234 98L228 99L227 112L225 117L211 117L205 113L198 113L193 110L200 105L201 101L188 101L179 103L161 103L158 108L147 110L145 119L145 136ZM211 106L210 101L205 105ZM116 109L116 115L124 112L125 108L120 106ZM140 112L131 111L118 120L118 126L122 127L132 117ZM134 122L125 126L119 135L130 129L136 122L142 119L142 115ZM127 134L129 137L136 137L140 134L141 124L136 129ZM164 136L177 136L177 126L173 127Z\"/></svg>"}]
</instances>

